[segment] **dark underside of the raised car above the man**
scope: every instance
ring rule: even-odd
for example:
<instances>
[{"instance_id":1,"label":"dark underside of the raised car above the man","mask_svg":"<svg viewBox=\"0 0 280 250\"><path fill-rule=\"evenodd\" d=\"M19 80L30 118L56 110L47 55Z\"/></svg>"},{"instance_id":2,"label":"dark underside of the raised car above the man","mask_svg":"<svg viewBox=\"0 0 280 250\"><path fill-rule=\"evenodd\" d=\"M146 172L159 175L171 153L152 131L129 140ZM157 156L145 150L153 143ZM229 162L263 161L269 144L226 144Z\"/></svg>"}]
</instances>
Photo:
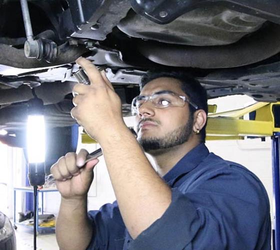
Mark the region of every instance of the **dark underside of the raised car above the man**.
<instances>
[{"instance_id":1,"label":"dark underside of the raised car above the man","mask_svg":"<svg viewBox=\"0 0 280 250\"><path fill-rule=\"evenodd\" d=\"M31 88L43 100L48 127L70 116L74 60L105 69L123 115L147 70L183 70L208 98L246 94L280 100L278 0L28 0L33 39L41 51L26 57L19 0L0 0L0 140L24 132ZM32 49L30 47L30 49ZM29 51L30 52L30 51Z\"/></svg>"}]
</instances>

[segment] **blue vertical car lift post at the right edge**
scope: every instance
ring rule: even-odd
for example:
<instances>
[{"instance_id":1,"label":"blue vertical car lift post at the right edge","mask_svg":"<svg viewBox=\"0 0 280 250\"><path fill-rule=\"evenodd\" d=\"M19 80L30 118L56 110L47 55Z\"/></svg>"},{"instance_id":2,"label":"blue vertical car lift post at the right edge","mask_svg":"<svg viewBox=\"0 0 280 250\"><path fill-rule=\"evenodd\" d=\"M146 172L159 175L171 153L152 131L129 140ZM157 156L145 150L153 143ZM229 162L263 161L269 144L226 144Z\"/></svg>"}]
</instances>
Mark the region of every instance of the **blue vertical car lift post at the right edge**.
<instances>
[{"instance_id":1,"label":"blue vertical car lift post at the right edge","mask_svg":"<svg viewBox=\"0 0 280 250\"><path fill-rule=\"evenodd\" d=\"M280 132L272 135L272 181L273 181L273 222L272 230L273 250L280 249L280 176L279 153Z\"/></svg>"}]
</instances>

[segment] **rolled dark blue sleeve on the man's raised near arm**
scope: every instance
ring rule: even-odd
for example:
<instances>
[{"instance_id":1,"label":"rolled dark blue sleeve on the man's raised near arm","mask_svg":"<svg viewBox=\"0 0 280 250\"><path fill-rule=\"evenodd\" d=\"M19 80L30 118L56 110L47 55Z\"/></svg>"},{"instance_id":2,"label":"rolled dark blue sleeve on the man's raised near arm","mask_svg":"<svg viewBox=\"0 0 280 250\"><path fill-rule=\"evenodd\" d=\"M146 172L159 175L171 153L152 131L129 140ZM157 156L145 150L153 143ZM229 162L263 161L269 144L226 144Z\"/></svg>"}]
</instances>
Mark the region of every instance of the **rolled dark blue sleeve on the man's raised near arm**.
<instances>
[{"instance_id":1,"label":"rolled dark blue sleeve on the man's raised near arm","mask_svg":"<svg viewBox=\"0 0 280 250\"><path fill-rule=\"evenodd\" d=\"M213 171L172 189L164 214L129 249L270 249L267 194L242 171Z\"/></svg>"}]
</instances>

